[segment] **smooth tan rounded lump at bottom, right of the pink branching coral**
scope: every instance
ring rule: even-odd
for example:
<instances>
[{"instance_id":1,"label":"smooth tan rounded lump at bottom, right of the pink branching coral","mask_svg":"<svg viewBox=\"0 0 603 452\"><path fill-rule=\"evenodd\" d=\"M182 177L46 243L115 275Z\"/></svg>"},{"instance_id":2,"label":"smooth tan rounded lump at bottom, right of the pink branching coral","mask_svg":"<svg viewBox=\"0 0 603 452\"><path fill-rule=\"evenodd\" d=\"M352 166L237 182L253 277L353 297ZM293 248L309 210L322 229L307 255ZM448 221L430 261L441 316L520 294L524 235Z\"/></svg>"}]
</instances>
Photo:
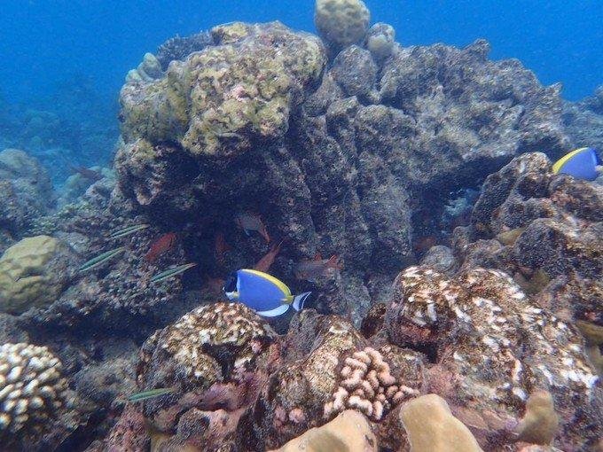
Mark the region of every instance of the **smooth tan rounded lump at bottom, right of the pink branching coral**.
<instances>
[{"instance_id":1,"label":"smooth tan rounded lump at bottom, right of the pink branching coral","mask_svg":"<svg viewBox=\"0 0 603 452\"><path fill-rule=\"evenodd\" d=\"M474 435L436 394L405 402L400 422L408 434L412 452L482 452Z\"/></svg>"}]
</instances>

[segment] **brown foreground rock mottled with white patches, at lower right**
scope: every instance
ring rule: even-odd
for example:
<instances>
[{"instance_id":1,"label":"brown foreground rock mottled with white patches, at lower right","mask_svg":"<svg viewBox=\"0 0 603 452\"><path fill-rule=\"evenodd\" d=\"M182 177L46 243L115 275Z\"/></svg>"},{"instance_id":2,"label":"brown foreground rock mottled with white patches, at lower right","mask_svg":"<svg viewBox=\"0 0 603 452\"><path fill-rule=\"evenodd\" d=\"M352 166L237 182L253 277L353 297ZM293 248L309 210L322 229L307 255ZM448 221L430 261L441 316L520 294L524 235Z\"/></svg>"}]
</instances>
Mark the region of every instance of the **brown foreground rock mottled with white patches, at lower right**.
<instances>
[{"instance_id":1,"label":"brown foreground rock mottled with white patches, at lower right","mask_svg":"<svg viewBox=\"0 0 603 452\"><path fill-rule=\"evenodd\" d=\"M563 444L584 447L603 429L593 421L598 378L579 333L500 271L473 269L450 279L432 269L406 269L396 280L386 327L396 344L427 348L440 373L450 372L453 387L435 387L465 408L495 413L501 428L505 419L521 417L528 394L548 389L563 407L557 435ZM578 409L592 414L577 416ZM496 436L482 447L495 447Z\"/></svg>"}]
</instances>

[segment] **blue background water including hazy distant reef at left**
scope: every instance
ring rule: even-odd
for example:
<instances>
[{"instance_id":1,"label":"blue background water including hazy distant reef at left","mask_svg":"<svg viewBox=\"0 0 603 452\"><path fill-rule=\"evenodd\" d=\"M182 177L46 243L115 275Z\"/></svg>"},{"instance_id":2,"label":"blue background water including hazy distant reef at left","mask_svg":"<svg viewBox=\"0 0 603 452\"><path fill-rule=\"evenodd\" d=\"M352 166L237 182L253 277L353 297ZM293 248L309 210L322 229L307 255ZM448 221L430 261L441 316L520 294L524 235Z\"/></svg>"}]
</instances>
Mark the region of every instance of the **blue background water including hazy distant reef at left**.
<instances>
[{"instance_id":1,"label":"blue background water including hazy distant reef at left","mask_svg":"<svg viewBox=\"0 0 603 452\"><path fill-rule=\"evenodd\" d=\"M603 83L603 0L365 0L403 45L464 46L520 58L568 99ZM18 147L63 183L111 159L125 74L169 37L235 19L314 31L314 0L2 0L0 150Z\"/></svg>"}]
</instances>

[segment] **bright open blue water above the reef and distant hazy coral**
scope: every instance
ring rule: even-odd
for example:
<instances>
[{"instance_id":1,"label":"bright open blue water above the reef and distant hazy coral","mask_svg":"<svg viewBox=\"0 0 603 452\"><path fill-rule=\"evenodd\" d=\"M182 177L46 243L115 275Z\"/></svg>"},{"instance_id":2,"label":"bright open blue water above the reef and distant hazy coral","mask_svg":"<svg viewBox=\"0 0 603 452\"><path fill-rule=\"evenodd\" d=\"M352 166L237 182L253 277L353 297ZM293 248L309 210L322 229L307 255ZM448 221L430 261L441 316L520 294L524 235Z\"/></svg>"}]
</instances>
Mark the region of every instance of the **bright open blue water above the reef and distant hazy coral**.
<instances>
[{"instance_id":1,"label":"bright open blue water above the reef and distant hazy coral","mask_svg":"<svg viewBox=\"0 0 603 452\"><path fill-rule=\"evenodd\" d=\"M4 0L0 90L12 102L40 97L73 74L88 74L116 96L145 51L235 19L313 30L312 0ZM492 58L520 58L545 84L563 82L577 99L603 82L601 0L368 0L373 21L392 24L399 42L492 43Z\"/></svg>"}]
</instances>

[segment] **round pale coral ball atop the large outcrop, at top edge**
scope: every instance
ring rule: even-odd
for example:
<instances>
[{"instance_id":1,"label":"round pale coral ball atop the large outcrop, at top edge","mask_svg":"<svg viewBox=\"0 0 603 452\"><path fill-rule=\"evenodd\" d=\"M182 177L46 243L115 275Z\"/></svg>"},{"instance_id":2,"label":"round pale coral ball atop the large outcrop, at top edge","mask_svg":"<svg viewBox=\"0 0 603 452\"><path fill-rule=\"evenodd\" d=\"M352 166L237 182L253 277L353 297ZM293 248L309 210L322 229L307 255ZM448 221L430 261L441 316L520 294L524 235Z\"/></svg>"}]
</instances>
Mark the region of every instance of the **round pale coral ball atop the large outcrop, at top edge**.
<instances>
[{"instance_id":1,"label":"round pale coral ball atop the large outcrop, at top edge","mask_svg":"<svg viewBox=\"0 0 603 452\"><path fill-rule=\"evenodd\" d=\"M361 41L371 13L362 0L317 0L314 24L323 39L334 47Z\"/></svg>"}]
</instances>

